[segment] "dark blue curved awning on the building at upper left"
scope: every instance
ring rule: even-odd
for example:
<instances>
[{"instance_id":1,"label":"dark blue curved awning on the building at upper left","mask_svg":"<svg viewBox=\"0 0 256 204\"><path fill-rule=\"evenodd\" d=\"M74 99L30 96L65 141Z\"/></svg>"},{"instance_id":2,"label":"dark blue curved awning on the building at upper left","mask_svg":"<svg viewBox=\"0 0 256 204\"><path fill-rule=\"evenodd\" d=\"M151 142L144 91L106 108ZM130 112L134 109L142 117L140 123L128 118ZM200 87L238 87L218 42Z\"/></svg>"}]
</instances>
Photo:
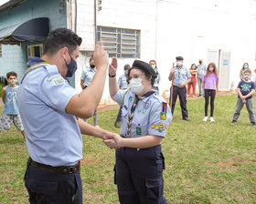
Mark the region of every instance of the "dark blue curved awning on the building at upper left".
<instances>
[{"instance_id":1,"label":"dark blue curved awning on the building at upper left","mask_svg":"<svg viewBox=\"0 0 256 204\"><path fill-rule=\"evenodd\" d=\"M48 17L31 19L25 23L0 28L0 44L20 45L24 41L42 42L48 36Z\"/></svg>"}]
</instances>

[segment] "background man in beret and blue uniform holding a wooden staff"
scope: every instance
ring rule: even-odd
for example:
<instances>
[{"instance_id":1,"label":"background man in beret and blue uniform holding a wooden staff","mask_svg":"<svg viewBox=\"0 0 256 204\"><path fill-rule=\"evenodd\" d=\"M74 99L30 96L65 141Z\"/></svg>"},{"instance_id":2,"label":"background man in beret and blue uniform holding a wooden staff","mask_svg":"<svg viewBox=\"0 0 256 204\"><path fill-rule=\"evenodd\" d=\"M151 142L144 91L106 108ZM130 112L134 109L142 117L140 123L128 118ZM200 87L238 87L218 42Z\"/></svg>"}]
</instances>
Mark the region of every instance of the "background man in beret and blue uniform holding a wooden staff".
<instances>
[{"instance_id":1,"label":"background man in beret and blue uniform holding a wooden staff","mask_svg":"<svg viewBox=\"0 0 256 204\"><path fill-rule=\"evenodd\" d=\"M189 121L187 113L187 84L190 82L191 74L188 71L187 67L183 66L184 58L182 56L176 57L176 66L172 68L169 80L173 80L173 94L170 94L170 101L172 101L172 114L174 115L175 106L176 106L176 97L179 98L179 103L181 107L182 118ZM171 87L172 88L172 87ZM170 91L170 93L172 93ZM172 100L171 100L171 97Z\"/></svg>"}]
</instances>

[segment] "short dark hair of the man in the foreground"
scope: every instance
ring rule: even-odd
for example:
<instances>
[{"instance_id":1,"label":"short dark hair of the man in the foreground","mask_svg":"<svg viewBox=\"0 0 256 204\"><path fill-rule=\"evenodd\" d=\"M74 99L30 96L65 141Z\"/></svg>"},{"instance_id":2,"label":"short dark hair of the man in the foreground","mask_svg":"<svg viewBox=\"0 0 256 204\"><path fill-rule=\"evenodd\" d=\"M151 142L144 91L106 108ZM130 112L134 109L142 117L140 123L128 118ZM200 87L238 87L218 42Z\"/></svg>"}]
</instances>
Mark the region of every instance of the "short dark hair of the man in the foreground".
<instances>
[{"instance_id":1,"label":"short dark hair of the man in the foreground","mask_svg":"<svg viewBox=\"0 0 256 204\"><path fill-rule=\"evenodd\" d=\"M55 54L64 46L68 47L69 53L71 54L80 44L80 36L68 28L59 27L48 34L44 54Z\"/></svg>"}]
</instances>

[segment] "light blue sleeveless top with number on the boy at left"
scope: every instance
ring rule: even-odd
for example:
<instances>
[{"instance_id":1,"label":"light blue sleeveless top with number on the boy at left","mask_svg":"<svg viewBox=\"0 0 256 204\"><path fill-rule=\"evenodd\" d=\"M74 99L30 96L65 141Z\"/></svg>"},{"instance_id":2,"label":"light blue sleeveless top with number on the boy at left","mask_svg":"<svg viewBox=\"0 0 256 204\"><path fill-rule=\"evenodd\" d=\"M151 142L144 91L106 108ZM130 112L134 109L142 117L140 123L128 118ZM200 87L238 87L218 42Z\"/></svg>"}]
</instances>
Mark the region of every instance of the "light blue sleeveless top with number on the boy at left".
<instances>
[{"instance_id":1,"label":"light blue sleeveless top with number on the boy at left","mask_svg":"<svg viewBox=\"0 0 256 204\"><path fill-rule=\"evenodd\" d=\"M12 88L10 86L5 87L5 107L2 115L18 115L17 107L17 93L18 87Z\"/></svg>"}]
</instances>

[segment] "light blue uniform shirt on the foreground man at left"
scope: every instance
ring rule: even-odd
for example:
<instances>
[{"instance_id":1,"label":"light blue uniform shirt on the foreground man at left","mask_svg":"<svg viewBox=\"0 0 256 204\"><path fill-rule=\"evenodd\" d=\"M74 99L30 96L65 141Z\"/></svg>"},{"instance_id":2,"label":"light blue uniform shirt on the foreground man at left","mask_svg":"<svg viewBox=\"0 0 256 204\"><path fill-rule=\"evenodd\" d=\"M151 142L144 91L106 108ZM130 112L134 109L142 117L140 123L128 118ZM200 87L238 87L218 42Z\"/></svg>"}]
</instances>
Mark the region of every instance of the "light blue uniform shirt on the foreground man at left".
<instances>
[{"instance_id":1,"label":"light blue uniform shirt on the foreground man at left","mask_svg":"<svg viewBox=\"0 0 256 204\"><path fill-rule=\"evenodd\" d=\"M66 113L76 93L57 66L30 57L30 72L19 86L18 107L27 136L29 156L53 167L73 166L82 158L82 138L76 117Z\"/></svg>"}]
</instances>

